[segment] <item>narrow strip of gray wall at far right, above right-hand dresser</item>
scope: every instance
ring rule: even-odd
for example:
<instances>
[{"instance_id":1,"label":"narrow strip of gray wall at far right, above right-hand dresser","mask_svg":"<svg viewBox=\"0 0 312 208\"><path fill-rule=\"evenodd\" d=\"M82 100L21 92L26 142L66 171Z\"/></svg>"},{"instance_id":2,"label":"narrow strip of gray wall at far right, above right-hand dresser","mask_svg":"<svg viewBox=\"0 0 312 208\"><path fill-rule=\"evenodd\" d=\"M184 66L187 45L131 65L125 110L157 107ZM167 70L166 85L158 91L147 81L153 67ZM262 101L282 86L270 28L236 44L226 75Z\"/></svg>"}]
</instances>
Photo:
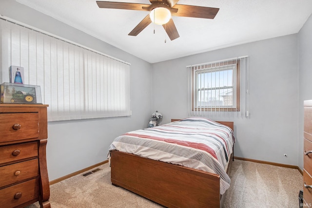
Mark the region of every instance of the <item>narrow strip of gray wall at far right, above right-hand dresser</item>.
<instances>
[{"instance_id":1,"label":"narrow strip of gray wall at far right, above right-hand dresser","mask_svg":"<svg viewBox=\"0 0 312 208\"><path fill-rule=\"evenodd\" d=\"M298 33L298 165L303 169L303 101L312 99L312 16Z\"/></svg>"}]
</instances>

